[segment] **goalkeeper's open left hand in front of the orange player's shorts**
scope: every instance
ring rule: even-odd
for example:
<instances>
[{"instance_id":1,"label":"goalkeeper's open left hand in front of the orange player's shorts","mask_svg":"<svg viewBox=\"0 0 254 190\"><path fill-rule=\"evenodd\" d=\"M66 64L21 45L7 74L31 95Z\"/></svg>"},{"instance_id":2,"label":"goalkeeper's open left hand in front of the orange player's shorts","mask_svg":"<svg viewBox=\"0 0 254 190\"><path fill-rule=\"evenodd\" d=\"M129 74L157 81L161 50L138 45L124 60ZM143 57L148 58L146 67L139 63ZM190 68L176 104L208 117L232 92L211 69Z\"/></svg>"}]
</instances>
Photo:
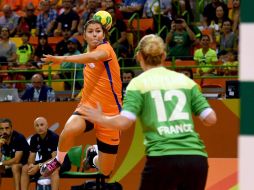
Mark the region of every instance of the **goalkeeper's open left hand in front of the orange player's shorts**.
<instances>
[{"instance_id":1,"label":"goalkeeper's open left hand in front of the orange player's shorts","mask_svg":"<svg viewBox=\"0 0 254 190\"><path fill-rule=\"evenodd\" d=\"M97 103L97 108L92 108L89 106L82 106L81 109L84 111L84 118L92 123L101 123L103 120L102 108L99 103Z\"/></svg>"}]
</instances>

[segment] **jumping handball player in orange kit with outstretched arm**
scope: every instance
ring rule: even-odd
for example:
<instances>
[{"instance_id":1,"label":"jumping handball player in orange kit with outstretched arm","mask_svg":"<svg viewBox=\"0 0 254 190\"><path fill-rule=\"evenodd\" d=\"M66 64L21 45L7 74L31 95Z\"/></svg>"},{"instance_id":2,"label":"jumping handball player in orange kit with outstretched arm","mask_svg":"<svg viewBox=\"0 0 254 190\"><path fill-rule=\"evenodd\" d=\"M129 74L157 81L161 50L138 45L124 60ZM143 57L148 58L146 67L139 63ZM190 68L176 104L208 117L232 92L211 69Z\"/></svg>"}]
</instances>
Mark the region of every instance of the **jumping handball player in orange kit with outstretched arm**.
<instances>
[{"instance_id":1,"label":"jumping handball player in orange kit with outstretched arm","mask_svg":"<svg viewBox=\"0 0 254 190\"><path fill-rule=\"evenodd\" d=\"M97 145L87 149L85 169L96 167L103 175L110 175L113 170L118 150L120 131L111 130L86 121L82 106L97 107L102 105L105 115L114 116L121 111L120 67L116 54L105 40L107 30L97 20L89 20L84 26L84 40L88 52L72 56L44 55L45 62L61 64L75 62L85 64L84 88L82 98L74 113L70 116L61 132L56 158L41 166L43 176L49 176L63 163L68 150L75 145L75 138L84 131L95 129Z\"/></svg>"}]
</instances>

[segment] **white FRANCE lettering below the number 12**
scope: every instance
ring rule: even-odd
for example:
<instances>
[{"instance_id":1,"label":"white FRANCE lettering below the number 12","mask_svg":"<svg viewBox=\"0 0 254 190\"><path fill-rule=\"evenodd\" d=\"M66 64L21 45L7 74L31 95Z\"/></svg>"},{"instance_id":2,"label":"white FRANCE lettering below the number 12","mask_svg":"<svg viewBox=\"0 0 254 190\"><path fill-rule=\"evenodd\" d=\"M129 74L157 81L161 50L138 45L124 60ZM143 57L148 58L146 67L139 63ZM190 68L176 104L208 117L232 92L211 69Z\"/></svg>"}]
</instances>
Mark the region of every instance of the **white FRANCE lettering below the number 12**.
<instances>
[{"instance_id":1,"label":"white FRANCE lettering below the number 12","mask_svg":"<svg viewBox=\"0 0 254 190\"><path fill-rule=\"evenodd\" d=\"M170 126L161 126L157 128L157 131L160 135L172 135L180 133L192 133L192 124L180 124L180 125L170 125Z\"/></svg>"}]
</instances>

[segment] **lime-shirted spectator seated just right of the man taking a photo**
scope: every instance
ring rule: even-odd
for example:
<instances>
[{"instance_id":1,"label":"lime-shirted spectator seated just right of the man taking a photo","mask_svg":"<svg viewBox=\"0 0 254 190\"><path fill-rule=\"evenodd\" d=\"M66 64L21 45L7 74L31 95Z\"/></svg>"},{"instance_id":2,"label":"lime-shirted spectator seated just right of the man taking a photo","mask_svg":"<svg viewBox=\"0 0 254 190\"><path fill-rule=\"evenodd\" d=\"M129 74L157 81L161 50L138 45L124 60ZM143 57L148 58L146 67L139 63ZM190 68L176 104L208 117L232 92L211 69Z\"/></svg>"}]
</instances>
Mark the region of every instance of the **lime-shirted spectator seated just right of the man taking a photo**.
<instances>
[{"instance_id":1,"label":"lime-shirted spectator seated just right of the man taking a photo","mask_svg":"<svg viewBox=\"0 0 254 190\"><path fill-rule=\"evenodd\" d=\"M201 48L194 52L196 64L201 66L197 69L199 75L213 75L216 70L211 66L218 62L216 51L210 48L210 37L203 35L201 38ZM208 67L206 67L208 66Z\"/></svg>"}]
</instances>

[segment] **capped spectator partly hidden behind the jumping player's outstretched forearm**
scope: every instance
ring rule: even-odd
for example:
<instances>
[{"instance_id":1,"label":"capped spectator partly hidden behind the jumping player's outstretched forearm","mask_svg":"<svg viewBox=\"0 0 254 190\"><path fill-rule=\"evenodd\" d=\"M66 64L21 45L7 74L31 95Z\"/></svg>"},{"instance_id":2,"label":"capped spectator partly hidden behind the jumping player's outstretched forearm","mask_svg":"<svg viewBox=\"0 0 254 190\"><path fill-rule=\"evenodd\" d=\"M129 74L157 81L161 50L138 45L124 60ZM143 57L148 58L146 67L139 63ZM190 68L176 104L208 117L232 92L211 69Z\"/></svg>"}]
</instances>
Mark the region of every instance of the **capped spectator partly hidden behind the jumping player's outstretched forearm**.
<instances>
[{"instance_id":1,"label":"capped spectator partly hidden behind the jumping player's outstretched forearm","mask_svg":"<svg viewBox=\"0 0 254 190\"><path fill-rule=\"evenodd\" d=\"M78 40L76 38L70 38L67 42L68 52L64 54L65 56L70 55L79 55L81 54L78 50ZM81 81L67 81L65 82L65 89L71 89L73 83L75 84L75 88L81 89L83 87L83 64L76 64L72 62L63 62L60 66L61 69L67 69L68 71L61 71L61 78L65 79L81 79ZM74 69L74 71L73 71ZM71 71L70 71L71 70Z\"/></svg>"}]
</instances>

